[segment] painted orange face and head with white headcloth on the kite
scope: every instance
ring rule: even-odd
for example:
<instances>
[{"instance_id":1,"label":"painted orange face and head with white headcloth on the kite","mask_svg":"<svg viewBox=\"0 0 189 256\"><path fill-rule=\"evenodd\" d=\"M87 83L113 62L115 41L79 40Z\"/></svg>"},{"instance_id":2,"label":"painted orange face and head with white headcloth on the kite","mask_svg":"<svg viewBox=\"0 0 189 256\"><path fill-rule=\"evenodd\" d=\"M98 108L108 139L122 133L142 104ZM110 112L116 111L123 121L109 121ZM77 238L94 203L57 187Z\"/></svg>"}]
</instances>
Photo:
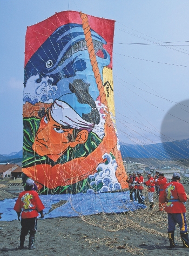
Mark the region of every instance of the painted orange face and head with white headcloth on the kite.
<instances>
[{"instance_id":1,"label":"painted orange face and head with white headcloth on the kite","mask_svg":"<svg viewBox=\"0 0 189 256\"><path fill-rule=\"evenodd\" d=\"M56 100L40 121L32 149L57 161L69 147L85 143L94 126L67 103Z\"/></svg>"}]
</instances>

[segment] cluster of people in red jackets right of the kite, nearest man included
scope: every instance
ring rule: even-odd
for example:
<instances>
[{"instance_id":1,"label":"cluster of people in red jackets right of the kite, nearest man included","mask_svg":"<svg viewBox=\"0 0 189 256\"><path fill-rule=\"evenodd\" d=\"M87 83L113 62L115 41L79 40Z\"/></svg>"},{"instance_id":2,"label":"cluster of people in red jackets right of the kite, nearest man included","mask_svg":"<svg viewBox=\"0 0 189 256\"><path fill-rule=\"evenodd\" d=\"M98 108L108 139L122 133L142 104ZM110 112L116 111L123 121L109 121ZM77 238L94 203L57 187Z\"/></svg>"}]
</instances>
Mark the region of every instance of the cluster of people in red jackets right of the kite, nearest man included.
<instances>
[{"instance_id":1,"label":"cluster of people in red jackets right of the kite, nearest man included","mask_svg":"<svg viewBox=\"0 0 189 256\"><path fill-rule=\"evenodd\" d=\"M136 176L136 174L138 176ZM156 172L154 178L151 173L147 173L147 181L144 182L144 178L140 172L133 172L130 178L127 180L130 183L130 199L133 201L138 200L139 204L144 204L143 189L144 185L147 186L147 193L150 202L150 210L153 209L154 201L153 194L155 192L159 196L159 212L164 210L168 213L168 239L170 241L170 247L168 249L174 250L177 248L174 242L174 231L176 225L180 227L180 237L183 241L183 247L189 248L189 239L186 225L186 207L187 201L185 189L180 183L180 174L173 173L172 181L167 183L167 179L164 173Z\"/></svg>"}]
</instances>

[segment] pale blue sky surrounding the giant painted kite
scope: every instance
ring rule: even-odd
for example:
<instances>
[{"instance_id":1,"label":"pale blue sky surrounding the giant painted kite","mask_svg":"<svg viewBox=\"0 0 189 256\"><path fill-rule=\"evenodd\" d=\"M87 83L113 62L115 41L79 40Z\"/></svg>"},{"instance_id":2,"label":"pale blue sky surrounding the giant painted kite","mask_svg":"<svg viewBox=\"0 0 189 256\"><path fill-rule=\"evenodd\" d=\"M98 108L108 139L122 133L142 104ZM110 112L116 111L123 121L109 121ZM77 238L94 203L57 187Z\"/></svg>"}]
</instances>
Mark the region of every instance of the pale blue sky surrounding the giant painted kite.
<instances>
[{"instance_id":1,"label":"pale blue sky surrounding the giant painted kite","mask_svg":"<svg viewBox=\"0 0 189 256\"><path fill-rule=\"evenodd\" d=\"M188 7L185 0L0 1L0 154L23 146L26 28L64 10L116 21L113 80L120 141L146 145L187 139Z\"/></svg>"}]
</instances>

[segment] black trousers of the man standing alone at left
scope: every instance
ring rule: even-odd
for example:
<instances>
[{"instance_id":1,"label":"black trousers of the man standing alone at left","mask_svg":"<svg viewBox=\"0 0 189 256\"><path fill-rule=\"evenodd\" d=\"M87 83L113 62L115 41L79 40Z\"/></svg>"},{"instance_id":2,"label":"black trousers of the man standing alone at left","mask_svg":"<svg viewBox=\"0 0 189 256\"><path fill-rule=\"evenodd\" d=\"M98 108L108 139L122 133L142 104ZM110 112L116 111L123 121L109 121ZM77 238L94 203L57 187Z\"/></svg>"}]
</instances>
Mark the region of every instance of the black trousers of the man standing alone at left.
<instances>
[{"instance_id":1,"label":"black trousers of the man standing alone at left","mask_svg":"<svg viewBox=\"0 0 189 256\"><path fill-rule=\"evenodd\" d=\"M35 235L37 231L37 218L21 219L21 237L25 236L30 231L30 235Z\"/></svg>"}]
</instances>

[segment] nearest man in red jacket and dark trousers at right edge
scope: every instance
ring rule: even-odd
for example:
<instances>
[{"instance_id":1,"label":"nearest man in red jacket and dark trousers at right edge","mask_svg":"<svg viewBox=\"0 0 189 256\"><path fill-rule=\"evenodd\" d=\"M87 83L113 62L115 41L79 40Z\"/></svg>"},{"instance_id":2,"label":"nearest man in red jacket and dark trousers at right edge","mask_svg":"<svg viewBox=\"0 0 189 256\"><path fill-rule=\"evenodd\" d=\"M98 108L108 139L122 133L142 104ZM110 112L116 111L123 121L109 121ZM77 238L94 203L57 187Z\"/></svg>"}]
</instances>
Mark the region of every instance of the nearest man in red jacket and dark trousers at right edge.
<instances>
[{"instance_id":1,"label":"nearest man in red jacket and dark trousers at right edge","mask_svg":"<svg viewBox=\"0 0 189 256\"><path fill-rule=\"evenodd\" d=\"M189 248L188 232L186 225L186 193L180 181L180 174L173 173L172 181L167 183L161 202L167 202L165 211L168 213L168 239L170 241L170 248L176 247L174 243L174 231L176 224L180 227L180 237L183 241L183 247Z\"/></svg>"}]
</instances>

